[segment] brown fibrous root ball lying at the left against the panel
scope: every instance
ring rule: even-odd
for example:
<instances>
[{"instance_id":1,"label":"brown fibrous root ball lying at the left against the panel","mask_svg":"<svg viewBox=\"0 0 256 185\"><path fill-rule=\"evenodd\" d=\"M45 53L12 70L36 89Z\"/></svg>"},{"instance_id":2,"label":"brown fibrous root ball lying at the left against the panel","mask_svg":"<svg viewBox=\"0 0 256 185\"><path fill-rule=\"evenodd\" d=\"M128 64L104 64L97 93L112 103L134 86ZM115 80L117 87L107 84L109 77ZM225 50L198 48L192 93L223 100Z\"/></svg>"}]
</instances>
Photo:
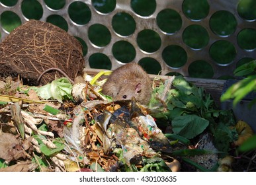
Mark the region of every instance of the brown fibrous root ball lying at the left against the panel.
<instances>
[{"instance_id":1,"label":"brown fibrous root ball lying at the left against the panel","mask_svg":"<svg viewBox=\"0 0 256 185\"><path fill-rule=\"evenodd\" d=\"M26 85L36 85L40 74L51 67L64 71L71 79L84 67L82 46L65 30L48 22L29 20L0 44L0 75L20 75ZM46 73L41 83L63 77L58 71Z\"/></svg>"}]
</instances>

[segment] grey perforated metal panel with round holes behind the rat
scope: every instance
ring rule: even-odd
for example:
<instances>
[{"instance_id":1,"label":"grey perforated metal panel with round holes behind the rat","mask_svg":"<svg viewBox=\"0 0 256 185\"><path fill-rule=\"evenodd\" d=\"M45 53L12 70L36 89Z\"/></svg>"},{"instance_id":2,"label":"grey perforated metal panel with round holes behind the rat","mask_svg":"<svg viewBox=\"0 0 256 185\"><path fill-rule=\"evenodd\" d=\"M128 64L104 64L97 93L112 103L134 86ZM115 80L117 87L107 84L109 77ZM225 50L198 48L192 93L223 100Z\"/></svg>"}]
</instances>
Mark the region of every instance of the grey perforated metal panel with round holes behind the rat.
<instances>
[{"instance_id":1,"label":"grey perforated metal panel with round holes behind the rat","mask_svg":"<svg viewBox=\"0 0 256 185\"><path fill-rule=\"evenodd\" d=\"M89 57L92 54L99 53L99 52L103 53L109 57L109 59L112 63L112 69L116 69L117 67L122 65L122 63L120 61L118 61L117 59L115 59L115 57L112 54L112 46L115 42L117 42L119 40L128 41L128 42L130 42L130 44L132 44L134 46L134 48L136 50L136 57L135 57L134 61L138 62L138 61L140 61L140 59L142 59L144 57L151 57L153 59L156 59L161 65L161 69L162 69L161 75L165 75L169 72L175 71L175 72L181 73L182 75L184 75L186 77L189 77L189 73L188 73L189 65L193 61L204 60L204 61L207 61L208 63L210 63L210 65L214 69L213 78L218 78L222 75L233 75L235 65L236 65L237 61L239 61L239 59L241 59L243 57L255 58L255 50L254 51L252 51L252 50L246 51L246 50L241 49L237 44L237 34L243 28L254 28L255 29L255 27L256 27L255 21L247 21L247 20L244 20L241 17L239 17L239 15L237 13L237 4L239 3L239 0L226 0L226 1L208 0L208 4L210 5L209 13L208 13L207 17L205 17L202 20L188 19L182 11L183 1L181 1L181 0L156 1L156 5L157 5L156 9L153 12L153 14L149 15L148 17L142 17L140 15L137 15L133 11L133 9L130 5L130 1L127 1L127 0L116 0L116 7L115 7L114 11L112 11L108 14L99 13L95 9L95 7L93 7L91 0L88 0L88 1L81 0L81 2L86 3L87 6L89 7L89 9L91 10L91 20L89 20L89 22L85 25L77 25L69 18L67 10L68 10L69 5L73 2L71 0L66 0L65 6L58 11L55 11L55 10L53 11L52 9L48 8L46 6L44 0L38 0L38 2L42 5L42 8L43 8L43 16L40 20L46 21L47 17L50 15L60 15L66 20L66 22L69 26L68 32L73 36L78 36L79 38L82 38L86 42L88 51L87 51L87 54L85 55L85 61L86 61L85 67L89 67L89 62L88 62ZM0 15L4 11L13 11L17 15L19 15L22 23L26 22L27 19L24 17L24 15L22 15L21 3L22 3L22 1L18 1L17 5L15 5L13 7L6 7L6 6L3 6L2 4L0 4ZM181 16L182 26L179 29L179 31L175 32L174 34L166 34L163 31L161 31L159 26L157 26L157 22L156 22L157 14L160 11L162 11L163 9L173 9L173 10L177 11L177 13L179 13L179 15ZM214 32L212 32L212 30L210 29L210 26L209 26L209 20L212 17L212 15L214 13L216 13L217 11L222 11L222 10L226 10L226 11L229 11L230 13L232 13L237 21L237 27L235 29L235 32L233 34L231 34L230 36L226 36L226 37L217 36L216 34L214 34ZM120 36L120 35L116 34L112 28L112 24L111 24L112 17L114 15L116 15L116 13L120 13L120 12L128 13L136 21L136 29L135 29L134 33L130 36ZM105 47L97 47L97 46L93 45L88 38L88 34L87 34L88 29L91 25L93 25L95 23L99 23L99 24L103 24L103 25L107 26L108 30L110 31L111 41ZM197 25L203 26L207 30L208 35L210 37L208 44L200 50L191 49L189 46L187 46L183 42L183 32L184 32L185 28L187 28L187 26L192 25L192 24L197 24ZM136 42L137 36L138 36L138 33L144 29L154 30L155 32L157 32L159 34L159 36L161 38L161 46L160 46L159 50L157 50L156 52L153 52L153 53L143 52L138 47L138 43ZM3 28L1 28L1 40L3 40L3 38L5 38L5 36L7 36L7 34L8 33L5 32L5 30L3 30ZM216 42L218 40L227 40L230 43L232 43L233 46L235 47L237 54L235 55L234 61L232 61L231 63L228 63L226 65L221 65L219 63L216 63L210 57L210 55L209 55L210 47L212 46L212 44L214 42ZM165 61L163 61L162 52L163 52L164 48L169 45L181 46L185 50L185 52L187 52L188 58L187 58L187 62L185 63L185 65L183 65L182 67L179 67L179 68L174 68L174 67L168 66L165 63Z\"/></svg>"}]
</instances>

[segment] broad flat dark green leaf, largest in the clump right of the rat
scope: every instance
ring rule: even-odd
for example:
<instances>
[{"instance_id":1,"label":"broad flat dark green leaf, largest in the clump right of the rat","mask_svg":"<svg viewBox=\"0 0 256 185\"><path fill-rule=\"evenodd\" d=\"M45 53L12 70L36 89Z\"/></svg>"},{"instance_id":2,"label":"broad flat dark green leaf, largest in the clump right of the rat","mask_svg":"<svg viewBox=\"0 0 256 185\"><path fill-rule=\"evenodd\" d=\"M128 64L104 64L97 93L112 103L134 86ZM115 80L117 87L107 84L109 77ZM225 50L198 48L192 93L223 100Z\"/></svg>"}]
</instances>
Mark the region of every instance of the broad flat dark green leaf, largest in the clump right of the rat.
<instances>
[{"instance_id":1,"label":"broad flat dark green leaf, largest in the clump right of the rat","mask_svg":"<svg viewBox=\"0 0 256 185\"><path fill-rule=\"evenodd\" d=\"M184 115L173 119L173 133L191 139L202 133L209 125L209 121L196 115Z\"/></svg>"}]
</instances>

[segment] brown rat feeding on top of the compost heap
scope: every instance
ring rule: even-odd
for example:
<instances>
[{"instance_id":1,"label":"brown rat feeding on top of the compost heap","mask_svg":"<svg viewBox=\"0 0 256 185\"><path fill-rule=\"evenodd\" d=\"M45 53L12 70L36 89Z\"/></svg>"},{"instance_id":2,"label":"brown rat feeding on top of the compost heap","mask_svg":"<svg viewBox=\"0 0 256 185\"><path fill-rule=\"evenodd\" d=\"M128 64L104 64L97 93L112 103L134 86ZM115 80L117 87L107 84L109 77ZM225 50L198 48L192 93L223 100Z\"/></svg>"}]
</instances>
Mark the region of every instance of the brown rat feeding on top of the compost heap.
<instances>
[{"instance_id":1,"label":"brown rat feeding on top of the compost heap","mask_svg":"<svg viewBox=\"0 0 256 185\"><path fill-rule=\"evenodd\" d=\"M141 104L148 104L151 96L151 80L137 63L127 63L115 69L103 85L103 94L114 100L130 100L132 96Z\"/></svg>"}]
</instances>

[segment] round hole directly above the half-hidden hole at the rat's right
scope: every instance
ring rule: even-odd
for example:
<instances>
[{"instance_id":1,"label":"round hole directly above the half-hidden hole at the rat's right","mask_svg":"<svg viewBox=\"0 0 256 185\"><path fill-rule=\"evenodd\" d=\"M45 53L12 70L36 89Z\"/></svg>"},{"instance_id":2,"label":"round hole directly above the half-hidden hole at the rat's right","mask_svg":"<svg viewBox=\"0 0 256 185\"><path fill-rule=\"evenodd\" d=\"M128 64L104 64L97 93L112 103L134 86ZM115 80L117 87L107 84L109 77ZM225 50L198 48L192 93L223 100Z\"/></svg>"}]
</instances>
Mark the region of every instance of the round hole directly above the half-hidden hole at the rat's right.
<instances>
[{"instance_id":1,"label":"round hole directly above the half-hidden hole at the rat's right","mask_svg":"<svg viewBox=\"0 0 256 185\"><path fill-rule=\"evenodd\" d=\"M142 30L138 33L137 43L140 49L148 53L153 53L160 48L161 38L153 30Z\"/></svg>"}]
</instances>

